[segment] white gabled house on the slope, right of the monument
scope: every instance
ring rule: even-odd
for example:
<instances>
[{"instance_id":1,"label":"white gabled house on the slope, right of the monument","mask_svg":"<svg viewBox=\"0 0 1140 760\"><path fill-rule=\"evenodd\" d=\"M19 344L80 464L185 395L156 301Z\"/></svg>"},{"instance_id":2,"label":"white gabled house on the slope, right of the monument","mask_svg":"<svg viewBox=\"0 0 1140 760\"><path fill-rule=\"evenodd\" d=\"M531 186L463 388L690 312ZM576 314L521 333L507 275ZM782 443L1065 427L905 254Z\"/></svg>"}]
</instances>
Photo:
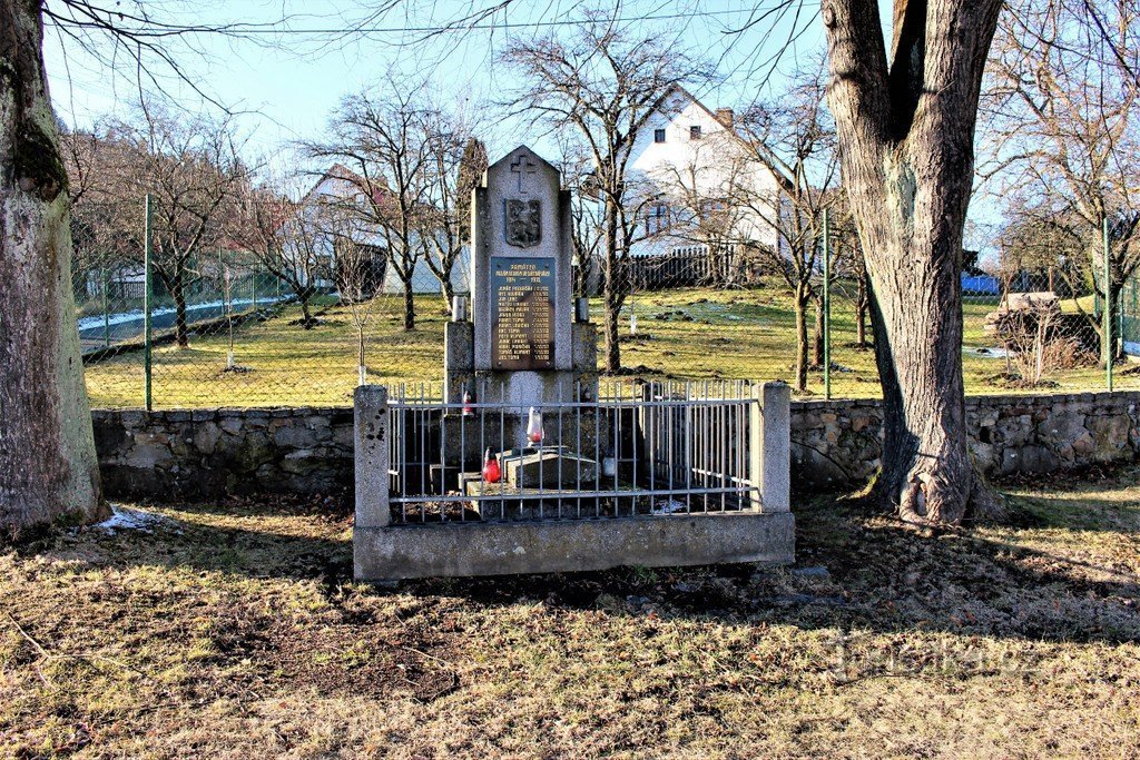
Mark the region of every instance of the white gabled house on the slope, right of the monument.
<instances>
[{"instance_id":1,"label":"white gabled house on the slope, right of the monument","mask_svg":"<svg viewBox=\"0 0 1140 760\"><path fill-rule=\"evenodd\" d=\"M777 250L776 231L768 220L777 218L779 185L750 155L755 154L738 133L731 108L712 112L684 88L674 87L632 148L628 169L646 182L650 195L658 196L642 213L641 232L650 237L632 255L692 246L700 237L694 234L695 215L707 220L708 212L717 212L731 227L732 238ZM734 204L741 188L747 188L754 207L772 211L757 213ZM764 201L768 197L769 204Z\"/></svg>"}]
</instances>

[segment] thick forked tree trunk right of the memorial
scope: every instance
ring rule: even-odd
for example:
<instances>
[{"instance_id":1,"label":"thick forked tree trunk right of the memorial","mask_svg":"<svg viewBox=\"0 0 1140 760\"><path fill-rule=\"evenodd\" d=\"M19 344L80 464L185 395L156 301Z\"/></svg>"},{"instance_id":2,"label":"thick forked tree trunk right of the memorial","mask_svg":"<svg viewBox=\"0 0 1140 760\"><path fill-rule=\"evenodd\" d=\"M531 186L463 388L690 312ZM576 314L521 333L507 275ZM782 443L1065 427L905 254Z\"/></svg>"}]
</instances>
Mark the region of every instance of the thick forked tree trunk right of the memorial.
<instances>
[{"instance_id":1,"label":"thick forked tree trunk right of the memorial","mask_svg":"<svg viewBox=\"0 0 1140 760\"><path fill-rule=\"evenodd\" d=\"M883 392L872 497L904 520L958 523L993 504L967 450L962 228L978 90L1000 0L896 0L888 70L878 3L826 0L844 180L871 283Z\"/></svg>"}]
</instances>

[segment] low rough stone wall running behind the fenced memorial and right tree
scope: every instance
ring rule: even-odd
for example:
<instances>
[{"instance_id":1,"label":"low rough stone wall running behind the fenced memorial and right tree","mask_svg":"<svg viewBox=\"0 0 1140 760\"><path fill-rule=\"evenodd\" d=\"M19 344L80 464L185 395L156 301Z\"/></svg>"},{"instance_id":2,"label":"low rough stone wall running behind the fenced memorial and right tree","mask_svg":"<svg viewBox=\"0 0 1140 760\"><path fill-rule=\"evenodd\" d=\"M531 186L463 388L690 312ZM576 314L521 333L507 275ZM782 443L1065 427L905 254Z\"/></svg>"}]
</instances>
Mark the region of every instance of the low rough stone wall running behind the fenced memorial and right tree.
<instances>
[{"instance_id":1,"label":"low rough stone wall running behind the fenced memorial and right tree","mask_svg":"<svg viewBox=\"0 0 1140 760\"><path fill-rule=\"evenodd\" d=\"M111 498L217 498L324 493L352 487L351 409L95 411ZM1140 393L976 397L967 400L971 450L990 474L1048 472L1132 460ZM881 404L791 404L792 488L865 482L881 450Z\"/></svg>"}]
</instances>

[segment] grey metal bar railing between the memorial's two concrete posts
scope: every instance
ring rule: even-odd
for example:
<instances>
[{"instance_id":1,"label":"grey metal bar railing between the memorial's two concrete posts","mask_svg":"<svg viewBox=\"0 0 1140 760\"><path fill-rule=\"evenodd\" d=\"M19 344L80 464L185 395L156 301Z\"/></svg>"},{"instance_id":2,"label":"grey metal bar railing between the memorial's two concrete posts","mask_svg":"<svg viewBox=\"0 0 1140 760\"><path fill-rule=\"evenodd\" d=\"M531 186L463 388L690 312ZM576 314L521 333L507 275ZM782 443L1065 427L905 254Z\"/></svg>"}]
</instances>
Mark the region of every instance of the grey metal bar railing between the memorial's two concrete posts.
<instances>
[{"instance_id":1,"label":"grey metal bar railing between the memorial's two concrete posts","mask_svg":"<svg viewBox=\"0 0 1140 760\"><path fill-rule=\"evenodd\" d=\"M752 508L759 484L749 477L749 425L758 389L743 381L603 383L596 401L576 386L522 407L448 403L432 386L393 387L392 524ZM482 384L475 398L505 392Z\"/></svg>"}]
</instances>

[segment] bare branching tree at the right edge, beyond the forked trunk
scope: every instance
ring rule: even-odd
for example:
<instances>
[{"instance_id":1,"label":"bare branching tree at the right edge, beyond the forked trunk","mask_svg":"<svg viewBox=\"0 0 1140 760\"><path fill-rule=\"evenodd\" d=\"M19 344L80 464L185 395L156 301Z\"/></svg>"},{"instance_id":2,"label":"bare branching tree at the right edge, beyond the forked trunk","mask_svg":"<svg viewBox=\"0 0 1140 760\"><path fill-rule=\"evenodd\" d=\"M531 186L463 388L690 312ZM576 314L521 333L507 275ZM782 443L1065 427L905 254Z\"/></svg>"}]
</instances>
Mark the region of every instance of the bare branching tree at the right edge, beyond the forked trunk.
<instances>
[{"instance_id":1,"label":"bare branching tree at the right edge, beyond the forked trunk","mask_svg":"<svg viewBox=\"0 0 1140 760\"><path fill-rule=\"evenodd\" d=\"M1081 242L1088 267L1076 271L1091 273L1101 296L1101 228L1108 220L1114 311L1124 284L1140 270L1137 71L1137 0L1094 7L1084 0L1019 0L997 25L983 101L988 137L983 175L1000 180L997 193L1017 198L1018 211L1039 220L1047 237ZM1104 342L1102 320L1085 313Z\"/></svg>"}]
</instances>

